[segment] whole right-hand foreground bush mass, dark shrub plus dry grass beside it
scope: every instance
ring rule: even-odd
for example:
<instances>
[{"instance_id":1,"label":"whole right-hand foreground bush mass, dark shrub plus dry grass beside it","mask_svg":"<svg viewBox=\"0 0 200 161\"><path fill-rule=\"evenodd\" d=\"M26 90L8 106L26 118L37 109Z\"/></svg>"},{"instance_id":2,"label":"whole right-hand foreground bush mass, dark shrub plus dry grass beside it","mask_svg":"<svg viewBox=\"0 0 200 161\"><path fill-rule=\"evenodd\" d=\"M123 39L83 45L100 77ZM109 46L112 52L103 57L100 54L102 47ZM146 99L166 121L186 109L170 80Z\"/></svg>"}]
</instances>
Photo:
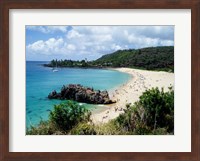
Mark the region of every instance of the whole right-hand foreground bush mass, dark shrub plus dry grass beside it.
<instances>
[{"instance_id":1,"label":"whole right-hand foreground bush mass, dark shrub plus dry grass beside it","mask_svg":"<svg viewBox=\"0 0 200 161\"><path fill-rule=\"evenodd\" d=\"M145 91L140 100L128 106L115 125L132 134L172 134L174 131L174 91L158 88Z\"/></svg>"}]
</instances>

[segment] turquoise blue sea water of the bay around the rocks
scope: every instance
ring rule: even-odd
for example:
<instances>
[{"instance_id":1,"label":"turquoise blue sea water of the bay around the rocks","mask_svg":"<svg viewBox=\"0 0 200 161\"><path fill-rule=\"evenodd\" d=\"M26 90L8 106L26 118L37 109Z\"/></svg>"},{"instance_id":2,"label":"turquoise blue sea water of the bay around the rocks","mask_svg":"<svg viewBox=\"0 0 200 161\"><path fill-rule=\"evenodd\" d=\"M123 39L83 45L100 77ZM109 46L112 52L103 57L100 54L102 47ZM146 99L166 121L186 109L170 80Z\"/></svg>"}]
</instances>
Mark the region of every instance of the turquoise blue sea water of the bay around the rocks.
<instances>
[{"instance_id":1,"label":"turquoise blue sea water of the bay around the rocks","mask_svg":"<svg viewBox=\"0 0 200 161\"><path fill-rule=\"evenodd\" d=\"M66 84L81 84L99 90L111 90L126 83L130 75L115 70L106 69L81 69L58 68L58 72L52 72L52 68L43 67L47 62L26 62L26 126L37 125L40 120L48 119L49 111L60 100L49 100L48 94ZM86 104L92 109L94 105ZM102 108L99 107L99 108Z\"/></svg>"}]
</instances>

